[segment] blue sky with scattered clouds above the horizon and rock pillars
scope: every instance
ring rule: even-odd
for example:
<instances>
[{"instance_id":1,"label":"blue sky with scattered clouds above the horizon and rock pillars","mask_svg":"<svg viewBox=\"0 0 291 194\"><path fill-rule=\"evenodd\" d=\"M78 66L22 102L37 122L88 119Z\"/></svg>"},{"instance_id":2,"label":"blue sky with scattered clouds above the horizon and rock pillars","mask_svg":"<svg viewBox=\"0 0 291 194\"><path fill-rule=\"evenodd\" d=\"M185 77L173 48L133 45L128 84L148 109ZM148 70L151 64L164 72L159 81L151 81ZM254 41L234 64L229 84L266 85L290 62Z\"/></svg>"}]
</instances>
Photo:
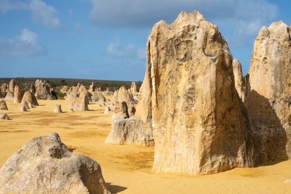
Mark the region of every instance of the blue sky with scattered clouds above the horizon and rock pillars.
<instances>
[{"instance_id":1,"label":"blue sky with scattered clouds above the horizon and rock pillars","mask_svg":"<svg viewBox=\"0 0 291 194\"><path fill-rule=\"evenodd\" d=\"M142 81L152 26L193 10L244 75L259 29L291 22L291 0L0 0L0 77Z\"/></svg>"}]
</instances>

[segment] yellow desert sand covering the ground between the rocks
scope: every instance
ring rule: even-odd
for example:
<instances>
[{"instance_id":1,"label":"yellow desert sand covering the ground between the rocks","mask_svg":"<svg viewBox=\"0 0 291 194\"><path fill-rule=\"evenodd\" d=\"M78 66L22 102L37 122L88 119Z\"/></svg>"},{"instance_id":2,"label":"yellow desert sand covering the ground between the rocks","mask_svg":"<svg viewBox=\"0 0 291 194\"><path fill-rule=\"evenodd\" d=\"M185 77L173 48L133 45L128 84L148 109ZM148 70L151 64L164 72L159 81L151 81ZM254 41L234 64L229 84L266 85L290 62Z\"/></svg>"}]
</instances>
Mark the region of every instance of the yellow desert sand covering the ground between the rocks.
<instances>
[{"instance_id":1,"label":"yellow desert sand covering the ground between the rocks","mask_svg":"<svg viewBox=\"0 0 291 194\"><path fill-rule=\"evenodd\" d=\"M189 177L154 174L153 147L104 144L111 129L111 114L90 104L87 112L66 112L71 101L38 100L40 106L20 112L6 100L12 120L0 119L0 166L33 137L59 133L70 151L96 160L112 194L291 194L291 161L237 168L216 175ZM65 113L53 113L61 104Z\"/></svg>"}]
</instances>

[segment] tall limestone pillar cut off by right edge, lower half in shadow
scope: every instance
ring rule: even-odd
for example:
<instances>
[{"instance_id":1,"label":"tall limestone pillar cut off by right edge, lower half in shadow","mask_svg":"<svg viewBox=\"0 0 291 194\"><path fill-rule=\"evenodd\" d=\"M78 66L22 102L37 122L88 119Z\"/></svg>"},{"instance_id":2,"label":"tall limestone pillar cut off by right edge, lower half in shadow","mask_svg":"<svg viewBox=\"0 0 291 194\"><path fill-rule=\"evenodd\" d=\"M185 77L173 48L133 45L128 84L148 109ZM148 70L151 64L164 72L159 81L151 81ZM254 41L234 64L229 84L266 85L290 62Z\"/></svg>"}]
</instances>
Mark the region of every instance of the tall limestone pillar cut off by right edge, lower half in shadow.
<instances>
[{"instance_id":1,"label":"tall limestone pillar cut off by right edge, lower half in shadow","mask_svg":"<svg viewBox=\"0 0 291 194\"><path fill-rule=\"evenodd\" d=\"M291 27L262 27L254 43L245 105L254 125L255 161L291 159Z\"/></svg>"}]
</instances>

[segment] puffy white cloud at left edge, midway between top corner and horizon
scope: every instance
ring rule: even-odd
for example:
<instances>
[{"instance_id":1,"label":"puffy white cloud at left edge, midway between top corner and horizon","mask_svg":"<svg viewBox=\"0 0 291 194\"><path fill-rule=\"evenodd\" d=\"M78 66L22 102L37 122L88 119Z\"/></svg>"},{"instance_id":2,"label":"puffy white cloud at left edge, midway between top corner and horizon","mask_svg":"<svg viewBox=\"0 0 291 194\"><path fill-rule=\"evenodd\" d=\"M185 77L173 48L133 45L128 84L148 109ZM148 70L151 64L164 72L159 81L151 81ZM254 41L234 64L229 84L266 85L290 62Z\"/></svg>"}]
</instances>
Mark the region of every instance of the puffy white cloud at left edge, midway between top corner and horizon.
<instances>
[{"instance_id":1,"label":"puffy white cloud at left edge, midway between top corner and horizon","mask_svg":"<svg viewBox=\"0 0 291 194\"><path fill-rule=\"evenodd\" d=\"M39 43L38 35L23 29L14 39L0 37L0 56L29 57L45 54L46 49Z\"/></svg>"}]
</instances>

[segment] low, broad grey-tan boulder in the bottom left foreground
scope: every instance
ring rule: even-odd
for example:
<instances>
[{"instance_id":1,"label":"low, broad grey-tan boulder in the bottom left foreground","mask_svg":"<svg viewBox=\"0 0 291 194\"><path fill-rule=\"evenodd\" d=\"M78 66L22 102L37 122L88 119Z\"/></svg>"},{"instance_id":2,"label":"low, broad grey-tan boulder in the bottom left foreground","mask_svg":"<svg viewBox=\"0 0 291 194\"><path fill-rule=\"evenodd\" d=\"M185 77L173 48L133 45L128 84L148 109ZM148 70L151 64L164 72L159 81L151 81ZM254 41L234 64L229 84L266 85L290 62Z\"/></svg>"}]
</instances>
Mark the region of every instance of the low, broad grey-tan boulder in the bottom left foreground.
<instances>
[{"instance_id":1,"label":"low, broad grey-tan boulder in the bottom left foreground","mask_svg":"<svg viewBox=\"0 0 291 194\"><path fill-rule=\"evenodd\" d=\"M69 152L57 133L33 138L4 163L0 193L110 194L100 165Z\"/></svg>"}]
</instances>

